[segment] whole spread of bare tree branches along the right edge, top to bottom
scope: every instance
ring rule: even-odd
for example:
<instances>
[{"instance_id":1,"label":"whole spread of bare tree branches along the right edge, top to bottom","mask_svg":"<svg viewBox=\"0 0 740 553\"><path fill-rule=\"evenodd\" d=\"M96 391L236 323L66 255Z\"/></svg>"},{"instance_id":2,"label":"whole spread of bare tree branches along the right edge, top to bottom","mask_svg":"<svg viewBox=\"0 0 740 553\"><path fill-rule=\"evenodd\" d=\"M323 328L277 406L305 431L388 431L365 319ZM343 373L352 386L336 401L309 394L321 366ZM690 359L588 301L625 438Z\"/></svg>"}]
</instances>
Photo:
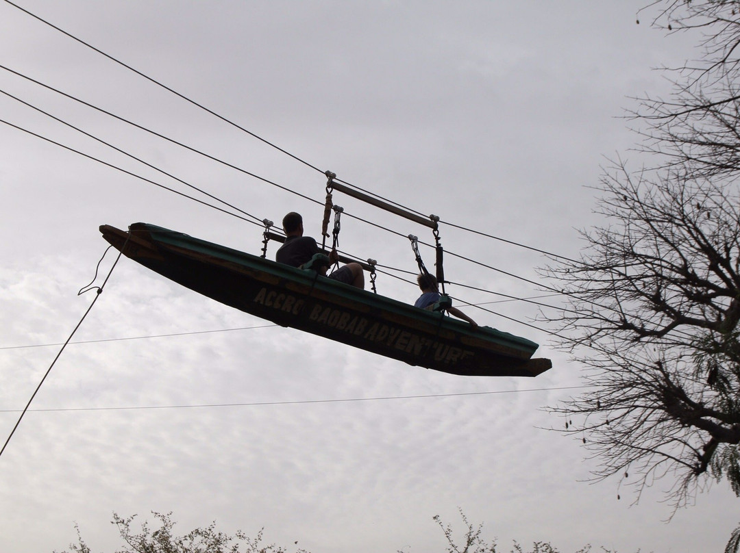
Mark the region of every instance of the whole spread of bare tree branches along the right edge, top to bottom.
<instances>
[{"instance_id":1,"label":"whole spread of bare tree branches along the right edge, top to bottom","mask_svg":"<svg viewBox=\"0 0 740 553\"><path fill-rule=\"evenodd\" d=\"M668 100L631 114L652 154L605 169L577 261L543 269L568 298L545 315L591 388L554 412L596 478L672 484L678 508L711 479L740 495L740 1L664 0L654 26L697 33L698 61L664 68ZM573 418L575 424L573 424Z\"/></svg>"}]
</instances>

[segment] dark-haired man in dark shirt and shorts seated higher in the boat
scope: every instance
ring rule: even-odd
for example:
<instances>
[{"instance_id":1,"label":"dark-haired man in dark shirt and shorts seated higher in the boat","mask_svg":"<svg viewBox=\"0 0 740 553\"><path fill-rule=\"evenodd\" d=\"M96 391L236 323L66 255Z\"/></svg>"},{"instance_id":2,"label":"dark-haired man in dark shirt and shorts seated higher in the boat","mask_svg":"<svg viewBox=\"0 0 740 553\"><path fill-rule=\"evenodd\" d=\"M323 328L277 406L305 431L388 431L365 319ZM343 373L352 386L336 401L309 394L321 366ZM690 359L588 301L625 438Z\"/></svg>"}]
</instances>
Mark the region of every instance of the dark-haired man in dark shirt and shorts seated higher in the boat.
<instances>
[{"instance_id":1,"label":"dark-haired man in dark shirt and shorts seated higher in the boat","mask_svg":"<svg viewBox=\"0 0 740 553\"><path fill-rule=\"evenodd\" d=\"M295 211L291 211L283 217L283 231L285 231L286 236L285 242L275 254L275 261L278 263L300 267L300 265L311 261L314 254L322 253L316 240L309 236L303 236L303 217ZM336 263L337 259L339 259L339 254L332 249L329 252L329 261ZM357 288L365 288L365 273L359 263L347 263L329 275L326 274L327 271L329 271L329 265L324 265L320 267L319 274L345 284L357 286Z\"/></svg>"}]
</instances>

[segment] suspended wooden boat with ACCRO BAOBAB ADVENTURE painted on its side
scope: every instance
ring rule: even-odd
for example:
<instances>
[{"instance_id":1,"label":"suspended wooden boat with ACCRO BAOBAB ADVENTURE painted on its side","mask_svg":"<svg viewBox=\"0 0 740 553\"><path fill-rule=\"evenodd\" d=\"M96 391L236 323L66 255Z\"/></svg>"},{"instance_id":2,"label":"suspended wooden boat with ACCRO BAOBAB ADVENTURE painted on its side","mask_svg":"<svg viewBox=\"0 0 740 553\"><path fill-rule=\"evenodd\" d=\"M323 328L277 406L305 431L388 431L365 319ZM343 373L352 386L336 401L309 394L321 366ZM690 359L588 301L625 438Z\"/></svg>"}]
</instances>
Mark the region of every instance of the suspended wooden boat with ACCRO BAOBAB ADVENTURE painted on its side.
<instances>
[{"instance_id":1,"label":"suspended wooden boat with ACCRO BAOBAB ADVENTURE painted on its side","mask_svg":"<svg viewBox=\"0 0 740 553\"><path fill-rule=\"evenodd\" d=\"M537 345L488 327L471 328L444 313L415 308L314 271L289 267L169 231L135 223L100 231L127 257L233 308L360 347L391 359L468 376L536 376L549 359Z\"/></svg>"}]
</instances>

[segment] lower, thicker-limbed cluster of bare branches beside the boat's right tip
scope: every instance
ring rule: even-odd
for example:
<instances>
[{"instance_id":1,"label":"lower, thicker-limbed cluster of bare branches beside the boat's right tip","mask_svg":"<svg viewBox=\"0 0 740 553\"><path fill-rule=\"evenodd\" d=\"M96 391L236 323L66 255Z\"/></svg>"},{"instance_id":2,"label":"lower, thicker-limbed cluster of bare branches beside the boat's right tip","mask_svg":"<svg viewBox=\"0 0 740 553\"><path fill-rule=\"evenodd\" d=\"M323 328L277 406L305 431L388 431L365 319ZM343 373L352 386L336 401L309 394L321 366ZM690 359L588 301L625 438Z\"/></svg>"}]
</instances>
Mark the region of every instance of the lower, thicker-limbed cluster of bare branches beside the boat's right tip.
<instances>
[{"instance_id":1,"label":"lower, thicker-limbed cluster of bare branches beside the boat's right tip","mask_svg":"<svg viewBox=\"0 0 740 553\"><path fill-rule=\"evenodd\" d=\"M711 468L740 492L740 197L624 167L601 190L612 225L549 271L571 304L551 321L593 386L555 410L583 415L568 432L599 477L631 472L642 489L670 474L683 506Z\"/></svg>"}]
</instances>

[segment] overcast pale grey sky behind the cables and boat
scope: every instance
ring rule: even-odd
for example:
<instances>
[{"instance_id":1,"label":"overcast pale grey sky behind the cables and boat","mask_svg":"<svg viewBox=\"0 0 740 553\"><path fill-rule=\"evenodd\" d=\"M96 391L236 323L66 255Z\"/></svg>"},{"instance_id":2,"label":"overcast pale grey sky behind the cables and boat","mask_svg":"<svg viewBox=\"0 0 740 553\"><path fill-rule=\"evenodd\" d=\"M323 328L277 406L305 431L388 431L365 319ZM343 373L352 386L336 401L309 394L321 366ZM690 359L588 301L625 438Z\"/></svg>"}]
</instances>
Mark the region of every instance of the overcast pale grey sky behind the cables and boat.
<instances>
[{"instance_id":1,"label":"overcast pale grey sky behind the cables and boat","mask_svg":"<svg viewBox=\"0 0 740 553\"><path fill-rule=\"evenodd\" d=\"M690 58L694 42L651 29L650 13L637 13L644 0L17 1L295 157L4 1L3 92L259 219L300 211L315 236L323 207L7 69L312 200L323 202L329 169L448 223L570 257L582 247L576 229L600 222L590 187L608 158L640 163L622 118L629 97L665 95L653 68ZM7 95L0 119L198 195ZM107 245L98 225L145 221L254 254L261 228L6 123L0 146L4 441L54 344L92 302L77 291ZM432 240L428 228L334 200ZM547 284L535 270L542 254L450 225L440 236L447 251L496 269L448 255L451 281L545 294L527 282ZM340 247L416 269L408 240L357 219L343 219ZM404 301L418 295L387 274L377 286ZM666 523L673 512L659 500L670 478L637 504L616 480L585 482L597 461L579 438L547 430L564 421L542 410L582 392L581 367L554 350L535 305L449 291L490 310L465 308L480 324L538 342L553 369L485 379L410 367L276 327L121 259L73 338L87 343L64 350L0 457L0 549L63 550L76 523L94 552L112 552L113 512L151 520L157 511L172 512L181 532L215 520L314 553L441 552L432 517L462 532L458 509L506 551L512 540L564 552L724 546L738 522L724 484Z\"/></svg>"}]
</instances>

